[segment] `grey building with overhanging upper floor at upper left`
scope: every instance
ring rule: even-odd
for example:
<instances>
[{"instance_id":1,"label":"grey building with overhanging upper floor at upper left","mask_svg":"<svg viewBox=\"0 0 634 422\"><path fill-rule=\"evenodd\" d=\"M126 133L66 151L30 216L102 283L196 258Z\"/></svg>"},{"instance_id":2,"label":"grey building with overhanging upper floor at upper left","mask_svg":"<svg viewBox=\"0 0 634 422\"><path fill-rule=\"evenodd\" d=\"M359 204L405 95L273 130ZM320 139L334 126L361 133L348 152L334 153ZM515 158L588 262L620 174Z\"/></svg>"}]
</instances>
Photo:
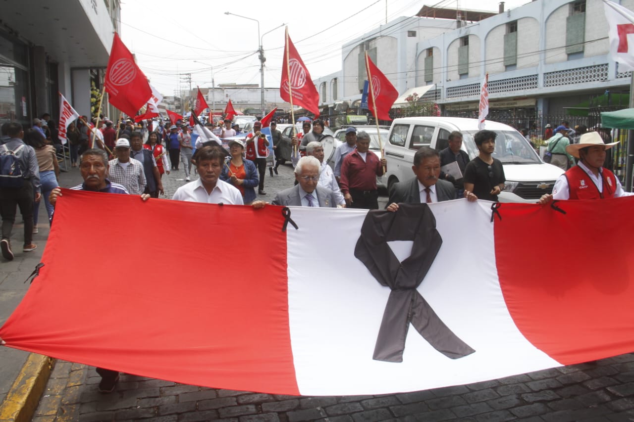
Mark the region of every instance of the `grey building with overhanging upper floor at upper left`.
<instances>
[{"instance_id":1,"label":"grey building with overhanging upper floor at upper left","mask_svg":"<svg viewBox=\"0 0 634 422\"><path fill-rule=\"evenodd\" d=\"M0 122L30 126L45 112L58 120L58 91L91 115L91 86L101 91L119 21L119 0L3 2ZM107 103L102 113L118 114Z\"/></svg>"}]
</instances>

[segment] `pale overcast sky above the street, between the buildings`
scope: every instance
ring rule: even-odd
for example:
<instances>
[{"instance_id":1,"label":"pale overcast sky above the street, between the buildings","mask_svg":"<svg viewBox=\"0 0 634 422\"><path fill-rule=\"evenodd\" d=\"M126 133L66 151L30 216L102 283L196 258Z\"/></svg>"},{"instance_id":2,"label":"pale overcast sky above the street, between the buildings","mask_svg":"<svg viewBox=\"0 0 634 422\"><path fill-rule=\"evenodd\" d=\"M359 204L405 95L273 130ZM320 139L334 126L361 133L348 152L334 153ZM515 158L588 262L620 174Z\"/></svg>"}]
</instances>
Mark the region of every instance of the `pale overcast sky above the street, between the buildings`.
<instances>
[{"instance_id":1,"label":"pale overcast sky above the street, between the buildings","mask_svg":"<svg viewBox=\"0 0 634 422\"><path fill-rule=\"evenodd\" d=\"M545 0L544 0L545 1ZM529 0L508 0L516 8ZM260 83L257 22L264 63L264 86L280 85L284 24L313 79L341 68L341 46L378 25L400 16L415 16L420 8L437 6L497 11L498 0L324 0L314 3L242 0L125 0L121 4L121 37L136 54L139 66L165 96L191 86ZM269 32L270 31L270 32ZM267 34L268 32L268 34ZM197 63L195 60L201 61Z\"/></svg>"}]
</instances>

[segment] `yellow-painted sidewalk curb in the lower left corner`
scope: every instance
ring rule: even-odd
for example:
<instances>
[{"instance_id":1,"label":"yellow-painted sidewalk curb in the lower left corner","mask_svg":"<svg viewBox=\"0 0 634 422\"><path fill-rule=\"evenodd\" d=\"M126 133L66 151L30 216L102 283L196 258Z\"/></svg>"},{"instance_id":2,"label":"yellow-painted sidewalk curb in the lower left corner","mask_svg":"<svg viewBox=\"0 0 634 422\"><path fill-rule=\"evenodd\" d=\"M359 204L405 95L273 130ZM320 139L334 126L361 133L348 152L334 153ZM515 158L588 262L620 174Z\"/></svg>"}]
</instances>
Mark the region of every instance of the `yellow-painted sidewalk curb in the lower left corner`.
<instances>
[{"instance_id":1,"label":"yellow-painted sidewalk curb in the lower left corner","mask_svg":"<svg viewBox=\"0 0 634 422\"><path fill-rule=\"evenodd\" d=\"M29 355L0 405L0 422L31 420L54 366L55 359L52 357L35 353Z\"/></svg>"}]
</instances>

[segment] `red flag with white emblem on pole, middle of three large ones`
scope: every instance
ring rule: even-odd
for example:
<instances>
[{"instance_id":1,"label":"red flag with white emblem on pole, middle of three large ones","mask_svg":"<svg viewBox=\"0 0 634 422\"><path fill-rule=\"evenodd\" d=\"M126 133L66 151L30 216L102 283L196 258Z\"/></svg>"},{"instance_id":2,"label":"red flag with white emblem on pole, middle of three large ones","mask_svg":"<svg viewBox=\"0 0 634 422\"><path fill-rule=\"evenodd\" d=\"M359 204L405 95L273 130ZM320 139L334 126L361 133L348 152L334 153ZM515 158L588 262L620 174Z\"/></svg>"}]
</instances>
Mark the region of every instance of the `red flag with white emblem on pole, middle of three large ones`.
<instances>
[{"instance_id":1,"label":"red flag with white emblem on pole, middle of three large ones","mask_svg":"<svg viewBox=\"0 0 634 422\"><path fill-rule=\"evenodd\" d=\"M297 53L293 42L290 41L288 27L286 29L284 60L281 65L280 96L281 99L292 105L306 108L315 117L319 116L319 93L313 85L313 79L311 79L304 61Z\"/></svg>"}]
</instances>

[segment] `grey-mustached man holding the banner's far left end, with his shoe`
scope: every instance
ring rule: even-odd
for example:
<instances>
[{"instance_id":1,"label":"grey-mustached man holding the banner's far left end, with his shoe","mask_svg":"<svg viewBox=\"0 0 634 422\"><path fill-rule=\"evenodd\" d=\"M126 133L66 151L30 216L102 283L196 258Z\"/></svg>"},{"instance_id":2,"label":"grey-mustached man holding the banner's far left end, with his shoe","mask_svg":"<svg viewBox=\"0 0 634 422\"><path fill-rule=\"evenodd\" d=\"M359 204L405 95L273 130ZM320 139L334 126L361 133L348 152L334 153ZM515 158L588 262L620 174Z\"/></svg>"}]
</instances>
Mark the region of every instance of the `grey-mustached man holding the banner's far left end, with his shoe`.
<instances>
[{"instance_id":1,"label":"grey-mustached man holding the banner's far left end, with his shoe","mask_svg":"<svg viewBox=\"0 0 634 422\"><path fill-rule=\"evenodd\" d=\"M108 176L108 154L104 150L93 149L87 150L79 158L79 171L84 178L84 182L75 186L75 191L93 191L105 193L128 193L124 186L118 183L112 183L107 179ZM60 188L55 188L49 195L49 201L55 207L58 196L61 196ZM150 195L144 193L141 200L146 201ZM97 368L97 373L101 375L101 382L98 390L101 393L112 393L119 381L119 372L112 369Z\"/></svg>"}]
</instances>

